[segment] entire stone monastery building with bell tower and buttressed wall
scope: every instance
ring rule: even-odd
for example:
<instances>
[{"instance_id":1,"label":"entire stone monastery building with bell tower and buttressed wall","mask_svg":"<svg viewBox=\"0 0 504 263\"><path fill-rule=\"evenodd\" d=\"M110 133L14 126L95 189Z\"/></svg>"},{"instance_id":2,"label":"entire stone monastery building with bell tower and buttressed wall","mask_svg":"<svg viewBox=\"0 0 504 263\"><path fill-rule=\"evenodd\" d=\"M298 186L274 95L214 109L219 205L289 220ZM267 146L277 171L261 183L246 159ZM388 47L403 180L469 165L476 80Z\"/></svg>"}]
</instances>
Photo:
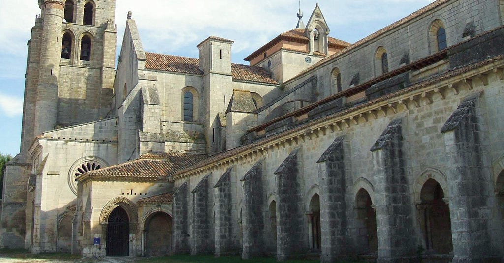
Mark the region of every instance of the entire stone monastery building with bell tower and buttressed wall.
<instances>
[{"instance_id":1,"label":"entire stone monastery building with bell tower and buttressed wall","mask_svg":"<svg viewBox=\"0 0 504 263\"><path fill-rule=\"evenodd\" d=\"M117 68L114 0L38 4L0 246L504 260L504 0L354 44L317 6L249 65L145 52L130 14Z\"/></svg>"}]
</instances>

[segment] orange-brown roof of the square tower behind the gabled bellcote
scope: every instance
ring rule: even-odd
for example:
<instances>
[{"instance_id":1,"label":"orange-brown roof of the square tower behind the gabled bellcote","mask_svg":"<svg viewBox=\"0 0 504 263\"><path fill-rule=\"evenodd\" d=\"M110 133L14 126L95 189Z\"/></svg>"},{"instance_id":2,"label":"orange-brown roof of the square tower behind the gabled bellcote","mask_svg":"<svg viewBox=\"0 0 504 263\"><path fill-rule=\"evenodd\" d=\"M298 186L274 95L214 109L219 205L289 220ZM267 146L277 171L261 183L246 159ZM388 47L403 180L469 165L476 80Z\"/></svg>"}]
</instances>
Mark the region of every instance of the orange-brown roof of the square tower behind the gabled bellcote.
<instances>
[{"instance_id":1,"label":"orange-brown roof of the square tower behind the gabled bellcote","mask_svg":"<svg viewBox=\"0 0 504 263\"><path fill-rule=\"evenodd\" d=\"M266 50L270 49L274 45L280 43L281 41L292 41L296 43L301 43L301 44L307 44L309 43L308 37L304 35L304 29L297 28L297 29L292 29L287 32L283 32L282 34L278 35L275 37L273 40L268 42L266 45L260 47L258 50L256 50L254 53L248 55L245 57L245 61L251 61L255 57L263 54L266 52ZM329 47L332 48L345 48L349 45L351 45L348 42L345 42L343 40L339 40L333 37L328 37L327 42L329 43Z\"/></svg>"}]
</instances>

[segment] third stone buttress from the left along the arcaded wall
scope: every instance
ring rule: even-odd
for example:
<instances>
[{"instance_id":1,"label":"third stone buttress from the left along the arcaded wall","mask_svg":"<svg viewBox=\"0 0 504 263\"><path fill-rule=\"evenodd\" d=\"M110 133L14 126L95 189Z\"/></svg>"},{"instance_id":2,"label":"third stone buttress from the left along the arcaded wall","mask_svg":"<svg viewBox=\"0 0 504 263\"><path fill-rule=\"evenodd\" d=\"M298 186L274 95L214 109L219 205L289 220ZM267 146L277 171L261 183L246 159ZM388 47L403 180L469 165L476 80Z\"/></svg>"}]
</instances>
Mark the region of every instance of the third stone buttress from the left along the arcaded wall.
<instances>
[{"instance_id":1,"label":"third stone buttress from the left along the arcaded wall","mask_svg":"<svg viewBox=\"0 0 504 263\"><path fill-rule=\"evenodd\" d=\"M214 186L217 191L215 202L215 255L217 256L232 252L230 177L232 169L233 167L229 167Z\"/></svg>"}]
</instances>

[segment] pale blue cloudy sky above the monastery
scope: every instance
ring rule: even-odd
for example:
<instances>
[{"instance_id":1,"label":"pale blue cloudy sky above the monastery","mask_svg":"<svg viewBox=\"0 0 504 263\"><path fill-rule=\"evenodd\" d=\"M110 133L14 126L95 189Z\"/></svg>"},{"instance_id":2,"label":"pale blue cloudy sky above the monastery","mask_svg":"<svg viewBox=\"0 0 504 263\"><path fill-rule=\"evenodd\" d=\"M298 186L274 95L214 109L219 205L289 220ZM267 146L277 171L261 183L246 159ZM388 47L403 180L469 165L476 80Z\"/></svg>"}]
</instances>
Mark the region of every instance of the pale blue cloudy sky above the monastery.
<instances>
[{"instance_id":1,"label":"pale blue cloudy sky above the monastery","mask_svg":"<svg viewBox=\"0 0 504 263\"><path fill-rule=\"evenodd\" d=\"M319 0L331 33L354 43L433 0ZM21 138L21 119L26 71L27 41L37 0L0 0L0 153L16 155ZM137 21L144 49L150 52L198 57L196 45L208 36L235 41L232 60L243 58L293 29L298 0L117 0L117 44L121 43L128 11ZM302 0L306 23L316 0ZM119 48L119 47L118 47Z\"/></svg>"}]
</instances>

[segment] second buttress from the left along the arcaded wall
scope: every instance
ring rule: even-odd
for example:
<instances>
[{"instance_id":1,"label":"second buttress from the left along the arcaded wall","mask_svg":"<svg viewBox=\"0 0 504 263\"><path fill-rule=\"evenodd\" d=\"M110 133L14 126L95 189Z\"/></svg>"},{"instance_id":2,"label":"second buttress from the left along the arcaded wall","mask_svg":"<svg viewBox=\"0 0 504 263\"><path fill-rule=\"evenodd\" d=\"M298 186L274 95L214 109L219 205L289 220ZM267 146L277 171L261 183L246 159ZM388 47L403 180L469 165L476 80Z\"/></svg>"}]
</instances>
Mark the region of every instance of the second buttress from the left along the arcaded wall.
<instances>
[{"instance_id":1,"label":"second buttress from the left along the arcaded wall","mask_svg":"<svg viewBox=\"0 0 504 263\"><path fill-rule=\"evenodd\" d=\"M193 222L191 254L207 254L210 248L210 220L208 215L208 177L206 175L193 190Z\"/></svg>"}]
</instances>

